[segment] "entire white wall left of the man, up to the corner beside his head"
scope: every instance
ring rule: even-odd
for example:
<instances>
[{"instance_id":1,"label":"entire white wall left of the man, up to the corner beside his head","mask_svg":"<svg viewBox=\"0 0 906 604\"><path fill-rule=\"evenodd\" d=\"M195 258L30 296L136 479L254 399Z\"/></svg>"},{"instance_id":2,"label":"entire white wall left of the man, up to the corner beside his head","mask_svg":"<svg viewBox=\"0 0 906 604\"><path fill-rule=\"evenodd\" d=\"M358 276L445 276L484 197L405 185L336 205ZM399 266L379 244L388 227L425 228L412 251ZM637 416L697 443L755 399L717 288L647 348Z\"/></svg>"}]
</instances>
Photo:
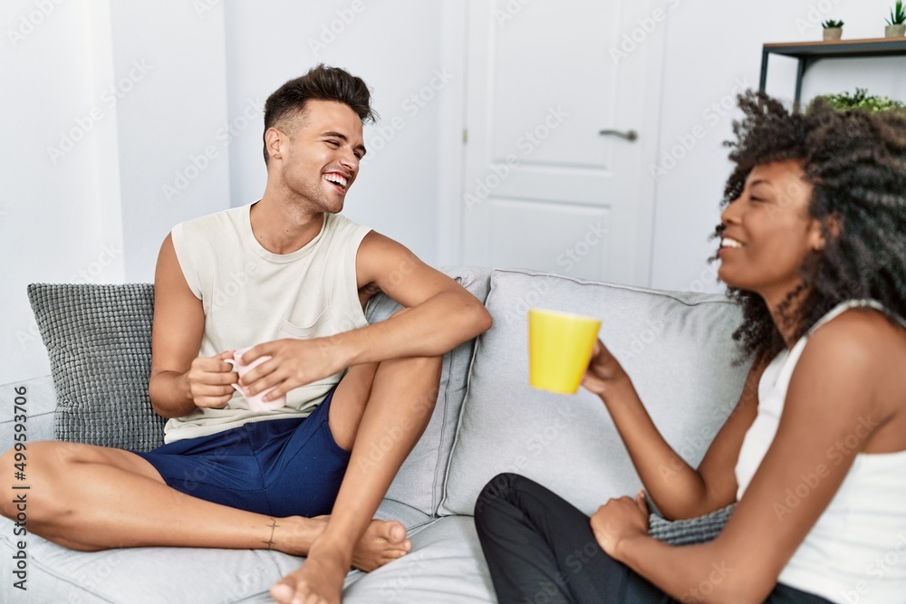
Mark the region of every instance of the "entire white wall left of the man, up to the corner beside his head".
<instances>
[{"instance_id":1,"label":"entire white wall left of the man, up to the corner beside his head","mask_svg":"<svg viewBox=\"0 0 906 604\"><path fill-rule=\"evenodd\" d=\"M172 225L229 206L226 153L164 191L226 121L223 9L210 13L181 0L0 8L0 383L48 373L28 283L150 282Z\"/></svg>"}]
</instances>

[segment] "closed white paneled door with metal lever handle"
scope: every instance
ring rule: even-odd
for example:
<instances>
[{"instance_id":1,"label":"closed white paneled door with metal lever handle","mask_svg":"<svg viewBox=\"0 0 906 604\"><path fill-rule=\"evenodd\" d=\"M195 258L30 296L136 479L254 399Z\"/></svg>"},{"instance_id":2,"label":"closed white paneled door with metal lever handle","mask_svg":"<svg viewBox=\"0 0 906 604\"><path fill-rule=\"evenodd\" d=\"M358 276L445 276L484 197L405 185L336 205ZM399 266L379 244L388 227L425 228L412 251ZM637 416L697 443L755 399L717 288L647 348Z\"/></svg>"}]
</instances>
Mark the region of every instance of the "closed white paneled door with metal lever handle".
<instances>
[{"instance_id":1,"label":"closed white paneled door with metal lever handle","mask_svg":"<svg viewBox=\"0 0 906 604\"><path fill-rule=\"evenodd\" d=\"M649 283L669 4L469 0L465 264Z\"/></svg>"}]
</instances>

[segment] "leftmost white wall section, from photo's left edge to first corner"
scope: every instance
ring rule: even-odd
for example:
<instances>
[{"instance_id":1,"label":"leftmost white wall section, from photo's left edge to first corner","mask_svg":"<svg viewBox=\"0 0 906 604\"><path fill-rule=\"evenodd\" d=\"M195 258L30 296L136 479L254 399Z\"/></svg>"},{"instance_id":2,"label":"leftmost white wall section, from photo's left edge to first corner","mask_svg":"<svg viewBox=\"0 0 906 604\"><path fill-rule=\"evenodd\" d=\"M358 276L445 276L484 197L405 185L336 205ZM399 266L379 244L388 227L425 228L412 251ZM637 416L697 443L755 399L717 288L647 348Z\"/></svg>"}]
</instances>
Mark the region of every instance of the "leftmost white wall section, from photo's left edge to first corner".
<instances>
[{"instance_id":1,"label":"leftmost white wall section, from photo's left edge to first corner","mask_svg":"<svg viewBox=\"0 0 906 604\"><path fill-rule=\"evenodd\" d=\"M90 278L123 273L121 254L98 263L103 246L120 247L122 237L115 225L105 231L101 219L96 142L115 118L92 75L90 14L75 3L51 3L45 12L14 0L4 3L0 20L0 383L38 374L43 345L27 283L78 281L79 271L91 269ZM89 117L92 110L100 121ZM80 120L92 132L62 145L61 132L78 129ZM51 157L51 147L65 150Z\"/></svg>"}]
</instances>

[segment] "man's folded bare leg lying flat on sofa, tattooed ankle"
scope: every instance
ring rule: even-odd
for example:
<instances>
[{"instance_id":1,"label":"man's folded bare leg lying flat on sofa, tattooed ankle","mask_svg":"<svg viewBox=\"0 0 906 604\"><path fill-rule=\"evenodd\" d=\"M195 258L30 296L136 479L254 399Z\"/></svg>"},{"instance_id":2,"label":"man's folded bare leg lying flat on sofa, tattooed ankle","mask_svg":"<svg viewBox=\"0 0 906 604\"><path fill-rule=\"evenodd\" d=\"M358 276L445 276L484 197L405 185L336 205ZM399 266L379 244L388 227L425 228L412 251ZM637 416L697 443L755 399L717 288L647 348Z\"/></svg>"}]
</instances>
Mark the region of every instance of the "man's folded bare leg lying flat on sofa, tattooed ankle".
<instances>
[{"instance_id":1,"label":"man's folded bare leg lying flat on sofa, tattooed ankle","mask_svg":"<svg viewBox=\"0 0 906 604\"><path fill-rule=\"evenodd\" d=\"M30 443L27 454L29 531L74 550L160 545L305 555L327 524L326 518L274 518L180 493L128 451L47 441ZM0 463L12 466L12 451ZM9 490L0 502L6 517L15 518L14 495ZM404 541L400 523L376 521L357 548L356 565L371 570L398 558L408 549Z\"/></svg>"}]
</instances>

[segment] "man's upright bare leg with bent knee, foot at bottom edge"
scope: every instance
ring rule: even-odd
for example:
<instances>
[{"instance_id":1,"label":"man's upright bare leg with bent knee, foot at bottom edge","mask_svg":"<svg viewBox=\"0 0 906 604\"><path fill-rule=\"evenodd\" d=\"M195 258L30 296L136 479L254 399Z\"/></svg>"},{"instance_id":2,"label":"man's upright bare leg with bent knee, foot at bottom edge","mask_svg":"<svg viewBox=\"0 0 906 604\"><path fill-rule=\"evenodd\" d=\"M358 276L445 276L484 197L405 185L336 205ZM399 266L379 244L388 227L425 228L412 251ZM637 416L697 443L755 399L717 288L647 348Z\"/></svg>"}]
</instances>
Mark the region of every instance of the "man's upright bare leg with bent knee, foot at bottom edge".
<instances>
[{"instance_id":1,"label":"man's upright bare leg with bent knee, foot at bottom edge","mask_svg":"<svg viewBox=\"0 0 906 604\"><path fill-rule=\"evenodd\" d=\"M359 390L367 402L330 522L313 542L302 568L271 588L276 600L283 604L340 601L352 546L428 425L438 396L440 363L440 357L385 360L374 371L371 388ZM342 395L340 388L334 400L338 395ZM342 397L340 402L344 404Z\"/></svg>"}]
</instances>

